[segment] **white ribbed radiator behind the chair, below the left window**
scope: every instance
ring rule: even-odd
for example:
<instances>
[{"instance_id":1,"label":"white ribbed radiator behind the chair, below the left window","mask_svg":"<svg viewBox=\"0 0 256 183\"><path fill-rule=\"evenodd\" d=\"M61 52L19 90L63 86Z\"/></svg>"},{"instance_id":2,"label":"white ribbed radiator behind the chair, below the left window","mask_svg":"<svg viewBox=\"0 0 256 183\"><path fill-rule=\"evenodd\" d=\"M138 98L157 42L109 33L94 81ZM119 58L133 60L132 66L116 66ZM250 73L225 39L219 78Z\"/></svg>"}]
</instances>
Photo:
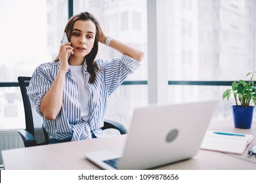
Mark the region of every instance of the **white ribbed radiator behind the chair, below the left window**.
<instances>
[{"instance_id":1,"label":"white ribbed radiator behind the chair, below the left window","mask_svg":"<svg viewBox=\"0 0 256 183\"><path fill-rule=\"evenodd\" d=\"M42 129L35 129L35 139L37 142L44 141L45 137L43 136ZM0 131L0 151L14 148L24 148L24 142L18 134L18 131ZM1 164L3 164L2 154L0 154L0 165Z\"/></svg>"}]
</instances>

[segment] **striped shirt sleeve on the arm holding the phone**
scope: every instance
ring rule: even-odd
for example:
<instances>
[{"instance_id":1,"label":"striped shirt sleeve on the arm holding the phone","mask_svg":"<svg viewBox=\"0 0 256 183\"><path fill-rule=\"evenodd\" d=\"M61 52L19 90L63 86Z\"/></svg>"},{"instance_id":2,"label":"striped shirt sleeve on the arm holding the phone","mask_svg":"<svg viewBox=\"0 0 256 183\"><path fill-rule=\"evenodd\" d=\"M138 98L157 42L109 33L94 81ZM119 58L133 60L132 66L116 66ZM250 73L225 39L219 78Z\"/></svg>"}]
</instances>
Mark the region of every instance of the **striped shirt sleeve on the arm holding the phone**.
<instances>
[{"instance_id":1,"label":"striped shirt sleeve on the arm holding the phone","mask_svg":"<svg viewBox=\"0 0 256 183\"><path fill-rule=\"evenodd\" d=\"M40 70L40 67L37 67L37 69L35 69L30 80L30 85L28 86L27 94L28 97L30 97L31 101L35 104L35 109L38 114L40 114L40 116L43 116L40 110L41 101L45 93L51 88L52 82L45 78L43 75L41 75Z\"/></svg>"}]
</instances>

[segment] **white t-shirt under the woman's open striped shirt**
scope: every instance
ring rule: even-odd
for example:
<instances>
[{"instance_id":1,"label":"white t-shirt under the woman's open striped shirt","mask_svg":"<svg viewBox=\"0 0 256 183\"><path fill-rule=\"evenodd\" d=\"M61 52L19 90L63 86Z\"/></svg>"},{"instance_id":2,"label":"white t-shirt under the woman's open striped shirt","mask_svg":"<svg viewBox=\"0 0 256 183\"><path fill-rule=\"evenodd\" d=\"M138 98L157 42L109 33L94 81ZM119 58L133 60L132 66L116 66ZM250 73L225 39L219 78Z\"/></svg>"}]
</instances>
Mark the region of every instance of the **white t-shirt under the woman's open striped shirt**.
<instances>
[{"instance_id":1,"label":"white t-shirt under the woman's open striped shirt","mask_svg":"<svg viewBox=\"0 0 256 183\"><path fill-rule=\"evenodd\" d=\"M83 75L83 65L70 65L72 76L78 84L79 101L81 104L81 120L89 120L89 95L90 91L85 84L85 76Z\"/></svg>"}]
</instances>

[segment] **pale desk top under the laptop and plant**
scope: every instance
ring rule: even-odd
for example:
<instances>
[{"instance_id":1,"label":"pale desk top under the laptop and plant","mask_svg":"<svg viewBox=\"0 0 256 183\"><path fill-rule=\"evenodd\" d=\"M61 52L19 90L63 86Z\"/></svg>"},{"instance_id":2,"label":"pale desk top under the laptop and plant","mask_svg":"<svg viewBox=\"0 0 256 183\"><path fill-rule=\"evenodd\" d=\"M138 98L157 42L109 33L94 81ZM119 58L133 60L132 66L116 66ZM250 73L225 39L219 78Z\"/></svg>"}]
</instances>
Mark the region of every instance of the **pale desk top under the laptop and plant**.
<instances>
[{"instance_id":1,"label":"pale desk top under the laptop and plant","mask_svg":"<svg viewBox=\"0 0 256 183\"><path fill-rule=\"evenodd\" d=\"M256 123L251 129L235 129L232 122L211 122L209 130L252 134L256 139ZM3 150L5 169L98 169L85 159L85 152L123 146L127 135L92 139L88 141L65 142ZM251 142L256 144L256 140ZM249 147L248 147L249 148ZM200 150L194 158L159 167L158 169L256 169L255 156L242 156Z\"/></svg>"}]
</instances>

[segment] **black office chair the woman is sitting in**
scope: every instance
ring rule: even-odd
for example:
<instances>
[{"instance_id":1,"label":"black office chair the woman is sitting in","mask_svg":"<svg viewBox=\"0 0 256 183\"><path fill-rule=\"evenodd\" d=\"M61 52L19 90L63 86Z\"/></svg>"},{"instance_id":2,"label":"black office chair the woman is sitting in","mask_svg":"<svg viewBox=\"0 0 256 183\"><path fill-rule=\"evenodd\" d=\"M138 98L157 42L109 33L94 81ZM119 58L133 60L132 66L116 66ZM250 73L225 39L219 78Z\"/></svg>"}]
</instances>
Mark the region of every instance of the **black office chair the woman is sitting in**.
<instances>
[{"instance_id":1,"label":"black office chair the woman is sitting in","mask_svg":"<svg viewBox=\"0 0 256 183\"><path fill-rule=\"evenodd\" d=\"M27 95L27 87L30 84L31 77L19 76L18 77L18 84L20 85L20 91L22 93L22 100L24 104L24 111L25 111L25 120L26 120L26 129L19 129L18 133L22 137L25 147L30 146L40 146L44 144L49 144L49 136L48 133L45 131L44 127L41 125L43 124L43 118L37 114L35 111L35 107L32 107L30 103L30 98ZM44 141L37 142L35 137L35 129L43 129L44 134ZM117 129L119 133L126 134L127 129L124 125L119 124L118 122L114 122L112 120L104 120L104 126L101 128L104 129Z\"/></svg>"}]
</instances>

